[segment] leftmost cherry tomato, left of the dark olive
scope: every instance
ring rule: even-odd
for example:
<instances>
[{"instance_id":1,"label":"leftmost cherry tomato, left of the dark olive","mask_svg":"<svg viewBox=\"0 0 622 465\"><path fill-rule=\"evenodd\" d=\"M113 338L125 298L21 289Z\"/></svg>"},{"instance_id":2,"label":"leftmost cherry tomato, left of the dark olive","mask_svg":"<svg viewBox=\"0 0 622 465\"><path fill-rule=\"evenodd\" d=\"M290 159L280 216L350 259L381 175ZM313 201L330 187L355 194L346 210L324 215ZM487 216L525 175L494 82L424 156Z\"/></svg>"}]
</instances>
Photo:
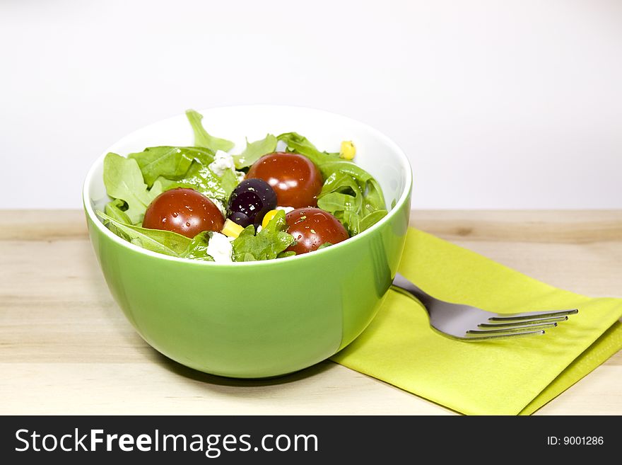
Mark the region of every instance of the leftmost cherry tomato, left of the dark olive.
<instances>
[{"instance_id":1,"label":"leftmost cherry tomato, left of the dark olive","mask_svg":"<svg viewBox=\"0 0 622 465\"><path fill-rule=\"evenodd\" d=\"M221 231L221 210L194 189L166 190L147 207L143 228L165 229L193 238L201 231Z\"/></svg>"}]
</instances>

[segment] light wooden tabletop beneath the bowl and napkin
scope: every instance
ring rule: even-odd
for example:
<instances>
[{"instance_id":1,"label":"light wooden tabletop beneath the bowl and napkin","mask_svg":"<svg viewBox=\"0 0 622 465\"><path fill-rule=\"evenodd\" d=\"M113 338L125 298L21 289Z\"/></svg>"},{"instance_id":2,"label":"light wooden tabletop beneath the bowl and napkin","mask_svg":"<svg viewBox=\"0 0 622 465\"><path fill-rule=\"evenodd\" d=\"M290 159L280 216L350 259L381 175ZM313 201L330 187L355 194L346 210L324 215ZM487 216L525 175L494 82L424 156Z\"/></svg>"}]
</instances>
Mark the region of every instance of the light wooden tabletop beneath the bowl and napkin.
<instances>
[{"instance_id":1,"label":"light wooden tabletop beneath the bowl and napkin","mask_svg":"<svg viewBox=\"0 0 622 465\"><path fill-rule=\"evenodd\" d=\"M622 297L622 211L413 212L413 225L558 287ZM622 352L539 414L622 414ZM0 212L0 414L452 414L333 362L271 381L194 372L112 301L78 211Z\"/></svg>"}]
</instances>

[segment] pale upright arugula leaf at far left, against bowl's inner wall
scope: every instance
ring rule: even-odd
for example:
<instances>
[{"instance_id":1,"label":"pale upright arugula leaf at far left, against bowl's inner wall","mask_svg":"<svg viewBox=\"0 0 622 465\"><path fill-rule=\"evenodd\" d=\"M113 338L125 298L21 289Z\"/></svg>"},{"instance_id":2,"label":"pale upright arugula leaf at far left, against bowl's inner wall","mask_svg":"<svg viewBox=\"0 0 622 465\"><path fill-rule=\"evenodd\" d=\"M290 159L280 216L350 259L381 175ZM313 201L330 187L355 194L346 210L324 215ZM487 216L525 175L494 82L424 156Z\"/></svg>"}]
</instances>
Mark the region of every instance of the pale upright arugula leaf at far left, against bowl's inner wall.
<instances>
[{"instance_id":1,"label":"pale upright arugula leaf at far left, against bowl's inner wall","mask_svg":"<svg viewBox=\"0 0 622 465\"><path fill-rule=\"evenodd\" d=\"M136 160L112 152L104 159L104 185L110 197L127 203L125 214L131 224L141 223L148 205L162 193L160 183L154 183L151 190L147 189Z\"/></svg>"}]
</instances>

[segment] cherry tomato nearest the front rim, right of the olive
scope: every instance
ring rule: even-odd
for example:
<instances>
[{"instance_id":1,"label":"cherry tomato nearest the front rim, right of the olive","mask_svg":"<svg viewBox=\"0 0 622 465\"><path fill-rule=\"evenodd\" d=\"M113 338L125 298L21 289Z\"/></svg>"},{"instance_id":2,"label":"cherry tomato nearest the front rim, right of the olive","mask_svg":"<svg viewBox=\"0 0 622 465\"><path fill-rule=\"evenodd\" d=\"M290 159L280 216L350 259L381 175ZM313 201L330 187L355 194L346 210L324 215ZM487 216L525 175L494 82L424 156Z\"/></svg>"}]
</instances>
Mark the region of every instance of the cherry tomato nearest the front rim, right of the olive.
<instances>
[{"instance_id":1,"label":"cherry tomato nearest the front rim, right of the olive","mask_svg":"<svg viewBox=\"0 0 622 465\"><path fill-rule=\"evenodd\" d=\"M296 255L317 251L323 243L336 244L348 239L348 231L329 212L319 208L298 208L285 216L288 233L296 243L287 250Z\"/></svg>"}]
</instances>

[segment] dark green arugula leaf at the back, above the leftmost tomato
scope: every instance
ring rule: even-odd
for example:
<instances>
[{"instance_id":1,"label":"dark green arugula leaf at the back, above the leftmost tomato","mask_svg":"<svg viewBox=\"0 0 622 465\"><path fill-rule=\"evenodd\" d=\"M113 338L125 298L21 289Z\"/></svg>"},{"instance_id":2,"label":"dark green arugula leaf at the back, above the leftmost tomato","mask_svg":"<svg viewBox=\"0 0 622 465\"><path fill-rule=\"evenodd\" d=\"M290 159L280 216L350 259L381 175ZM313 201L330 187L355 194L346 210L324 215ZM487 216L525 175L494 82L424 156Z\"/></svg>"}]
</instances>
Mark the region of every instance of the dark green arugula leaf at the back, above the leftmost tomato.
<instances>
[{"instance_id":1,"label":"dark green arugula leaf at the back, above the leftmost tomato","mask_svg":"<svg viewBox=\"0 0 622 465\"><path fill-rule=\"evenodd\" d=\"M186 176L193 161L209 165L213 153L201 147L148 147L143 151L129 154L129 159L139 163L147 185L151 187L158 177L180 180Z\"/></svg>"}]
</instances>

